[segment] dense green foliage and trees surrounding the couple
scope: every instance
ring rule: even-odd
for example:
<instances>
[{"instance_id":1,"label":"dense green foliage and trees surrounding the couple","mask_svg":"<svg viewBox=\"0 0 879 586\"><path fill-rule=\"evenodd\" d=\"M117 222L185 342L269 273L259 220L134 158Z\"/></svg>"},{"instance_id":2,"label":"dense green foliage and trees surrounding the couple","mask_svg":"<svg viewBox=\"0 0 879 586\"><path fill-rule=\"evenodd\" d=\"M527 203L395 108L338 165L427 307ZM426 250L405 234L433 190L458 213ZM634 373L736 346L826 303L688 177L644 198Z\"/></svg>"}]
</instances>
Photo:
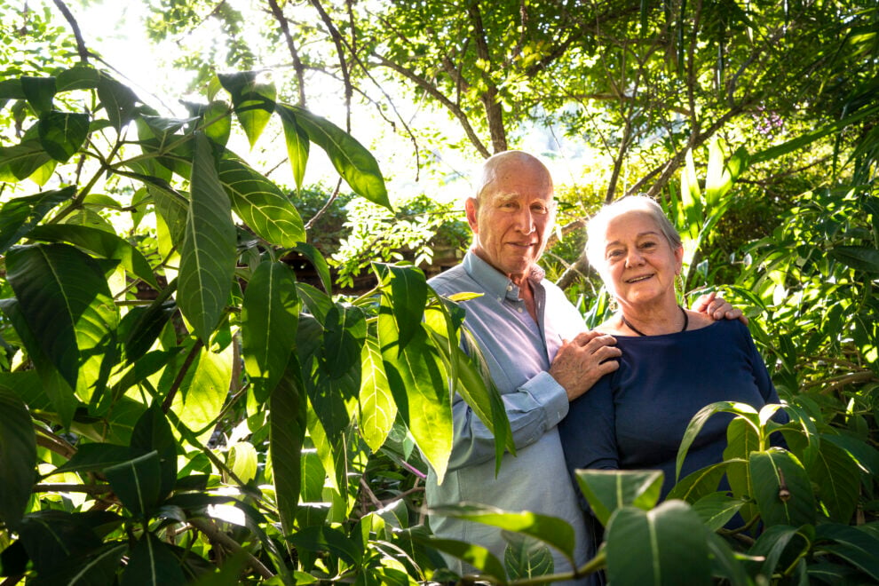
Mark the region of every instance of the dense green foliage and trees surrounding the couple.
<instances>
[{"instance_id":1,"label":"dense green foliage and trees surrounding the couple","mask_svg":"<svg viewBox=\"0 0 879 586\"><path fill-rule=\"evenodd\" d=\"M305 43L314 23L285 28L295 6L267 4L294 61L326 66L304 49L316 46ZM688 289L722 289L748 312L791 423L772 422L775 407L707 406L680 457L725 412L735 416L725 462L679 479L665 503L655 472L583 472L606 532L578 572L606 569L618 583L879 581L875 7L424 1L388 4L379 18L369 3L325 4L311 2L336 37L348 99L376 71L371 56L442 107L438 91L457 92L462 113L481 105L473 136L463 126L479 152L511 147L507 125L526 118L623 129L605 140L610 176L559 189L568 225L620 191L624 167L643 172L682 229ZM253 65L241 14L220 6L211 18L234 37L227 57ZM202 19L204 4L154 7L174 16L150 24L161 38ZM5 0L0 10L14 12ZM548 555L572 553L560 519L445 511L506 531L503 560L432 539L424 523L424 472L445 471L452 392L494 429L498 455L512 449L479 357L459 347L463 298L435 296L408 263L369 262L429 258L446 244L438 231L465 242L451 210L415 196L394 209L387 163L304 107L306 67L275 86L257 71L214 75L192 57L186 67L210 83L172 118L88 65L93 55L50 17L16 21L26 40L2 49L7 582L458 580L438 551L495 582L570 577L553 574ZM614 107L587 107L587 95ZM288 155L290 186L270 178L259 151L231 147L235 137L253 147L272 125L280 133L264 148ZM315 150L351 194L303 185ZM566 269L580 248L556 243L550 275L576 273ZM374 289L333 294L365 267ZM587 323L601 320L606 296L588 273L569 293ZM772 432L788 449L769 447ZM723 474L732 490L718 493ZM744 527L726 529L735 514Z\"/></svg>"}]
</instances>

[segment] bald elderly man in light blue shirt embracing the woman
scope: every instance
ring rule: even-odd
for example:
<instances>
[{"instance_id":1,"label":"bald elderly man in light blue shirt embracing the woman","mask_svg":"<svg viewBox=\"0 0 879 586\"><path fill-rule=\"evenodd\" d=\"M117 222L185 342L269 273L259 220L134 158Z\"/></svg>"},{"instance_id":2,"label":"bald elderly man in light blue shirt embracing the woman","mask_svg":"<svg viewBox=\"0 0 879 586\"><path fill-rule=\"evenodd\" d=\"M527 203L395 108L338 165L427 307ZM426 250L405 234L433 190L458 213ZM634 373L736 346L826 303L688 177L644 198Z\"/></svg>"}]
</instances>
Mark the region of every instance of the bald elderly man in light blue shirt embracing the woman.
<instances>
[{"instance_id":1,"label":"bald elderly man in light blue shirt embracing the woman","mask_svg":"<svg viewBox=\"0 0 879 586\"><path fill-rule=\"evenodd\" d=\"M484 503L565 519L576 532L579 566L588 560L593 544L585 535L557 424L571 400L618 368L616 360L608 359L621 352L613 337L585 331L580 313L561 289L543 279L537 265L555 212L552 179L542 162L521 151L495 154L485 162L466 212L474 234L471 250L460 265L429 282L440 295L483 294L463 303L464 324L502 394L517 455L503 456L495 478L493 437L461 397L455 397L446 479L438 485L431 471L427 502ZM718 318L740 314L722 300L714 305L711 311ZM496 527L437 516L431 525L440 537L478 543L503 560L506 543ZM557 551L552 554L556 572L572 569ZM472 571L455 559L448 561L458 572Z\"/></svg>"}]
</instances>

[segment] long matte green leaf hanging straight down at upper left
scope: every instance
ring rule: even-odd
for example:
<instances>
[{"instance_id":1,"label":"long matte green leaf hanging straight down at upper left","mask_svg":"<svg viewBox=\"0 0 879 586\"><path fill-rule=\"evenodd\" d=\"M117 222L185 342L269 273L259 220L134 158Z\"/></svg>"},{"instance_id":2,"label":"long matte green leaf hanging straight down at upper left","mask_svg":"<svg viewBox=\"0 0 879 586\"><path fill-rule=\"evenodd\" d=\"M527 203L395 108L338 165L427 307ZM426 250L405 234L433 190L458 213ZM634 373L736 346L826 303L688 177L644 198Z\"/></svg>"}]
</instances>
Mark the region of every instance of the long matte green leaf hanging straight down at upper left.
<instances>
[{"instance_id":1,"label":"long matte green leaf hanging straight down at upper left","mask_svg":"<svg viewBox=\"0 0 879 586\"><path fill-rule=\"evenodd\" d=\"M196 133L177 303L206 344L226 310L232 290L235 241L232 206L217 177L210 142Z\"/></svg>"}]
</instances>

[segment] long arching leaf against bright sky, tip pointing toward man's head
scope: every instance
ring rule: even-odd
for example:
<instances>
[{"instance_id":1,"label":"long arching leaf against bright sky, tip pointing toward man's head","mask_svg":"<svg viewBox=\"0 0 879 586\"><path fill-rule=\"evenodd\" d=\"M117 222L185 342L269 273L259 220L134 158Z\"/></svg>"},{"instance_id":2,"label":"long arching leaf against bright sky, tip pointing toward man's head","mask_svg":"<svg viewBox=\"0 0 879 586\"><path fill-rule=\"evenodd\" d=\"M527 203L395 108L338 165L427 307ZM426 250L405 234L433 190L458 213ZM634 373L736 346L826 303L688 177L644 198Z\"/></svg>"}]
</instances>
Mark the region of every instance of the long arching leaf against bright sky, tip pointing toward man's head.
<instances>
[{"instance_id":1,"label":"long arching leaf against bright sky, tip pointing toward man's head","mask_svg":"<svg viewBox=\"0 0 879 586\"><path fill-rule=\"evenodd\" d=\"M278 106L292 112L299 126L308 133L308 138L326 151L338 174L348 182L355 194L392 210L382 171L378 169L376 158L366 148L337 125L304 108L287 104Z\"/></svg>"}]
</instances>

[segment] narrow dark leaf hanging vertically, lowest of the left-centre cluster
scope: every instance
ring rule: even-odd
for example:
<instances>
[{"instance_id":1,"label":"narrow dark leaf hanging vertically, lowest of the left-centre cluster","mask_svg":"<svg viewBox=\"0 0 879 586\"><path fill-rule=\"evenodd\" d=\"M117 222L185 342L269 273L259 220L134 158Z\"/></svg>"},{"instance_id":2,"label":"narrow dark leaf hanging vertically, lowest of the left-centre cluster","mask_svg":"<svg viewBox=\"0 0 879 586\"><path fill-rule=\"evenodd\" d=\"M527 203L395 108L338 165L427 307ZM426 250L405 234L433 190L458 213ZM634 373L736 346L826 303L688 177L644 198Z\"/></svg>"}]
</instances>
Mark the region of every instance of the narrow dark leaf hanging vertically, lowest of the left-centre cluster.
<instances>
[{"instance_id":1,"label":"narrow dark leaf hanging vertically, lowest of the left-centre cluster","mask_svg":"<svg viewBox=\"0 0 879 586\"><path fill-rule=\"evenodd\" d=\"M298 373L288 368L281 382L273 387L269 403L269 454L272 457L274 492L284 535L293 532L302 490L301 458L306 404L298 378ZM320 481L322 485L322 475Z\"/></svg>"}]
</instances>

